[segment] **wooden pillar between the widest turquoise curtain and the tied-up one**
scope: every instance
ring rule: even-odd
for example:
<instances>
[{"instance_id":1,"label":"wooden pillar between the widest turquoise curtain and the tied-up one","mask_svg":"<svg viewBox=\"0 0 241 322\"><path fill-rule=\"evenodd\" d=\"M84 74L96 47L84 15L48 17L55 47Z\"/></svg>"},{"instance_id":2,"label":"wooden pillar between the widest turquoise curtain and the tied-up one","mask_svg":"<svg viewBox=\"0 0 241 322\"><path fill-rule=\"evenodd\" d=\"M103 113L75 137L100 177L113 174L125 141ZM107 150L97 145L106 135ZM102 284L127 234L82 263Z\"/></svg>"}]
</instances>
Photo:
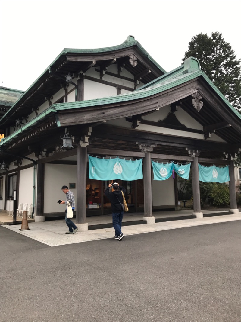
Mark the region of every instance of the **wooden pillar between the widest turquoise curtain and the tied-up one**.
<instances>
[{"instance_id":1,"label":"wooden pillar between the widest turquoise curtain and the tied-up one","mask_svg":"<svg viewBox=\"0 0 241 322\"><path fill-rule=\"evenodd\" d=\"M152 190L151 190L151 154L145 153L143 166L144 183L144 216L152 217Z\"/></svg>"}]
</instances>

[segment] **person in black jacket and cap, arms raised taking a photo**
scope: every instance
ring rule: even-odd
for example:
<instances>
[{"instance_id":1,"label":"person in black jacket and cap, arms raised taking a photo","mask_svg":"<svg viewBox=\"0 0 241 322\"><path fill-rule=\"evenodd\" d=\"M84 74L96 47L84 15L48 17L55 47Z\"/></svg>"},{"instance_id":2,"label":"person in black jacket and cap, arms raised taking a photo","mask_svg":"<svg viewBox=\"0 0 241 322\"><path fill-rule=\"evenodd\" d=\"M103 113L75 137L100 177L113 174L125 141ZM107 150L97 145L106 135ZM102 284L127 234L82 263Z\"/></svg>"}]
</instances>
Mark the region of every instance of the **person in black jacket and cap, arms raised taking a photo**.
<instances>
[{"instance_id":1,"label":"person in black jacket and cap, arms raised taking a photo","mask_svg":"<svg viewBox=\"0 0 241 322\"><path fill-rule=\"evenodd\" d=\"M110 188L113 187L114 191L110 192ZM125 194L126 189L119 186L117 182L111 183L105 190L105 195L111 201L112 209L112 223L115 230L114 239L121 241L124 235L121 232L121 222L123 218L123 209L121 204L123 204L122 192Z\"/></svg>"}]
</instances>

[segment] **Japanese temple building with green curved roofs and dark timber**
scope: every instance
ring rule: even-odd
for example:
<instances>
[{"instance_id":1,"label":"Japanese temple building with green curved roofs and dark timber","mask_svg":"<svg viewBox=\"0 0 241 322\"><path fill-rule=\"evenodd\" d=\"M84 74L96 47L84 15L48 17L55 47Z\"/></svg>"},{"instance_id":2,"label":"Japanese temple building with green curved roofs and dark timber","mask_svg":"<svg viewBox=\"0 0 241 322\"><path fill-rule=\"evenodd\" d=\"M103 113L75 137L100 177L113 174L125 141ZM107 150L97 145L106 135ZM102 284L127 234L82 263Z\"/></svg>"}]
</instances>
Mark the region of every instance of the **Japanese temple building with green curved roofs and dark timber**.
<instances>
[{"instance_id":1,"label":"Japanese temple building with green curved roofs and dark timber","mask_svg":"<svg viewBox=\"0 0 241 322\"><path fill-rule=\"evenodd\" d=\"M166 72L129 36L113 47L64 49L21 94L0 115L2 211L13 208L15 191L17 204L33 205L35 221L59 218L67 185L76 223L87 230L86 217L111 213L104 196L111 181L89 178L89 156L96 156L142 159L143 179L117 182L129 212L144 212L147 223L155 210L178 210L177 176L154 180L152 161L191 163L196 217L199 165L229 166L230 211L238 212L233 159L241 115L197 59Z\"/></svg>"}]
</instances>

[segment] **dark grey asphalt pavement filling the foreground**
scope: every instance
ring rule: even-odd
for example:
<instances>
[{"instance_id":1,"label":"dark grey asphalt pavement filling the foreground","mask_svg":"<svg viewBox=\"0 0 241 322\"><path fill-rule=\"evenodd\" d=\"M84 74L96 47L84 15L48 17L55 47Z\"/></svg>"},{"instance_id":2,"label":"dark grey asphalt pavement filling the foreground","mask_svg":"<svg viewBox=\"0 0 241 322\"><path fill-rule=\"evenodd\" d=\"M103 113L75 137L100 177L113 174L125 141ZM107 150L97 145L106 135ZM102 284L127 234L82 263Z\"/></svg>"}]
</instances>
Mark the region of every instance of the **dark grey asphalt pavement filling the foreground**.
<instances>
[{"instance_id":1,"label":"dark grey asphalt pavement filling the foreground","mask_svg":"<svg viewBox=\"0 0 241 322\"><path fill-rule=\"evenodd\" d=\"M240 322L241 221L49 247L0 227L1 322Z\"/></svg>"}]
</instances>

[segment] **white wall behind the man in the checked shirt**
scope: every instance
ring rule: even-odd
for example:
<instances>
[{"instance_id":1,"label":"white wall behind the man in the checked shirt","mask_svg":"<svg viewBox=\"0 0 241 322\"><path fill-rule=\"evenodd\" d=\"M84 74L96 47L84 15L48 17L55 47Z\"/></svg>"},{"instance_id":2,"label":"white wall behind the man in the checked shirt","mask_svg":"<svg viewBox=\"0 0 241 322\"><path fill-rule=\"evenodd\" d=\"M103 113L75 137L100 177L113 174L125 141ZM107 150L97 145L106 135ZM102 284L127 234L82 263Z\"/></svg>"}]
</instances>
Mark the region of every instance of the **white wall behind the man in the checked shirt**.
<instances>
[{"instance_id":1,"label":"white wall behind the man in the checked shirt","mask_svg":"<svg viewBox=\"0 0 241 322\"><path fill-rule=\"evenodd\" d=\"M61 190L63 185L75 183L77 186L77 166L45 164L44 179L44 213L63 213L65 205L58 204L57 201L65 200L66 195ZM76 200L76 189L71 189Z\"/></svg>"}]
</instances>

